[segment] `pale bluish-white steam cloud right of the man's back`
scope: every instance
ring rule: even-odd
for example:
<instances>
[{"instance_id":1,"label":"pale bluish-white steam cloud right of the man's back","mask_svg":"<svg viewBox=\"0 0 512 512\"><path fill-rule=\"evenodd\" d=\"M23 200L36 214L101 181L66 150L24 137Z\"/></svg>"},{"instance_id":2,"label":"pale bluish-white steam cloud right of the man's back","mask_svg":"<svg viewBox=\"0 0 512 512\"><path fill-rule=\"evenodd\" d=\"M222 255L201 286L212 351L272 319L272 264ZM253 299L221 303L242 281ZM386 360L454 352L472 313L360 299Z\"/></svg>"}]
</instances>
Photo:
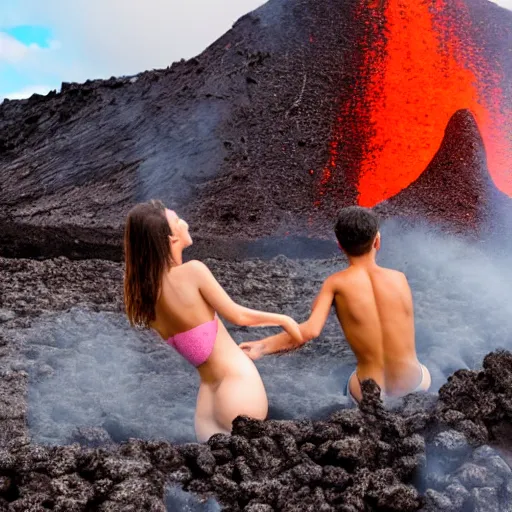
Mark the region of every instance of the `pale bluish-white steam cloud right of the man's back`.
<instances>
[{"instance_id":1,"label":"pale bluish-white steam cloud right of the man's back","mask_svg":"<svg viewBox=\"0 0 512 512\"><path fill-rule=\"evenodd\" d=\"M504 233L476 243L432 226L382 230L379 262L406 273L415 306L418 357L434 389L460 368L478 367L488 352L512 348L512 270Z\"/></svg>"}]
</instances>

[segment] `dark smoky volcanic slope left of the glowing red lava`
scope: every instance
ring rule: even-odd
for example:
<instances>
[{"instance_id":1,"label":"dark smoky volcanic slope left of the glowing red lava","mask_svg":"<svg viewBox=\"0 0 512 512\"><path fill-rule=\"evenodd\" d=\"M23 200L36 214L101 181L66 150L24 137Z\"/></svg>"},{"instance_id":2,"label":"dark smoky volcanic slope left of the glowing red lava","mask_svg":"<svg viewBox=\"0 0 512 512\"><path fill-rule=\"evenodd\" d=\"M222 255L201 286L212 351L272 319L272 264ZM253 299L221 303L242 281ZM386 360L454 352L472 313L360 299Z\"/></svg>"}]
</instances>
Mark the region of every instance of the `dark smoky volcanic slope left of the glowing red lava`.
<instances>
[{"instance_id":1,"label":"dark smoky volcanic slope left of the glowing red lava","mask_svg":"<svg viewBox=\"0 0 512 512\"><path fill-rule=\"evenodd\" d=\"M503 47L512 15L467 3L492 26L481 44ZM346 144L335 190L313 208L340 106L364 92L359 5L271 0L196 59L4 102L0 253L118 259L127 210L150 197L186 214L199 241L303 234L312 213L325 224L356 194L343 169L360 148Z\"/></svg>"}]
</instances>

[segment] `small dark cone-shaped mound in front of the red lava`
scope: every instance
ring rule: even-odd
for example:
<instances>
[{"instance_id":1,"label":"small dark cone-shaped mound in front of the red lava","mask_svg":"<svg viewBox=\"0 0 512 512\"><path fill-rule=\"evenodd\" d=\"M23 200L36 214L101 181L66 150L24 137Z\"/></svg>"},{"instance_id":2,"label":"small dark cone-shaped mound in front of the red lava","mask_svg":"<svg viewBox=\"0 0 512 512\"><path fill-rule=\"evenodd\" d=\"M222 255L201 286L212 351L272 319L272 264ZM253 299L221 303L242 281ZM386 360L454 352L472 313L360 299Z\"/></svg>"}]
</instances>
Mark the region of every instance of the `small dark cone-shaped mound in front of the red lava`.
<instances>
[{"instance_id":1,"label":"small dark cone-shaped mound in front of the red lava","mask_svg":"<svg viewBox=\"0 0 512 512\"><path fill-rule=\"evenodd\" d=\"M489 227L499 208L512 212L512 200L489 176L485 148L473 115L456 112L439 150L420 177L396 196L380 203L385 216L420 217L459 232Z\"/></svg>"}]
</instances>

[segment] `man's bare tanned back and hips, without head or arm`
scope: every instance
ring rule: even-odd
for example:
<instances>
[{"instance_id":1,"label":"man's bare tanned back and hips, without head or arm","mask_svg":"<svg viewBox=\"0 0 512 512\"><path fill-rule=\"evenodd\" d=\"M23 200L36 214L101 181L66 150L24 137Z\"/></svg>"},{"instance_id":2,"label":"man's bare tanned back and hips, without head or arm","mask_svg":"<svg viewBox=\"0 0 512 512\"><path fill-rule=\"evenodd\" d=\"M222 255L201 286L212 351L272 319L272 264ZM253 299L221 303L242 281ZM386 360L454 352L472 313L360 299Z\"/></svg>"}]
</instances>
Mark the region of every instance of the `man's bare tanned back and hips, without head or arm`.
<instances>
[{"instance_id":1,"label":"man's bare tanned back and hips, without head or arm","mask_svg":"<svg viewBox=\"0 0 512 512\"><path fill-rule=\"evenodd\" d=\"M426 369L419 366L414 342L414 312L407 278L372 265L351 265L335 277L336 314L357 358L349 382L356 400L359 383L373 379L387 395L416 389Z\"/></svg>"}]
</instances>

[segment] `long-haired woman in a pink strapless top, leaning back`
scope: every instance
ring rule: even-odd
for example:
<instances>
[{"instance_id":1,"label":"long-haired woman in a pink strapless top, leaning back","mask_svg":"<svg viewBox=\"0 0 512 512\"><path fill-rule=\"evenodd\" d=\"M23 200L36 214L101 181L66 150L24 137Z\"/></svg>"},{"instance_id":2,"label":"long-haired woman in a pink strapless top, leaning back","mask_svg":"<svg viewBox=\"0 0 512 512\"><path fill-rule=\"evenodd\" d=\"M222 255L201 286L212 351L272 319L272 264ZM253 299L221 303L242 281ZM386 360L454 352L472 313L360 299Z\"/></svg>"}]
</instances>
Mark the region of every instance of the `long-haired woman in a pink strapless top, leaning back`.
<instances>
[{"instance_id":1,"label":"long-haired woman in a pink strapless top, leaning back","mask_svg":"<svg viewBox=\"0 0 512 512\"><path fill-rule=\"evenodd\" d=\"M292 318L236 304L206 265L183 263L190 245L187 223L160 201L135 206L125 228L124 299L132 325L154 329L196 366L201 384L195 429L204 442L229 433L238 415L265 419L268 411L256 366L217 313L233 324L280 325L297 341L302 337Z\"/></svg>"}]
</instances>

